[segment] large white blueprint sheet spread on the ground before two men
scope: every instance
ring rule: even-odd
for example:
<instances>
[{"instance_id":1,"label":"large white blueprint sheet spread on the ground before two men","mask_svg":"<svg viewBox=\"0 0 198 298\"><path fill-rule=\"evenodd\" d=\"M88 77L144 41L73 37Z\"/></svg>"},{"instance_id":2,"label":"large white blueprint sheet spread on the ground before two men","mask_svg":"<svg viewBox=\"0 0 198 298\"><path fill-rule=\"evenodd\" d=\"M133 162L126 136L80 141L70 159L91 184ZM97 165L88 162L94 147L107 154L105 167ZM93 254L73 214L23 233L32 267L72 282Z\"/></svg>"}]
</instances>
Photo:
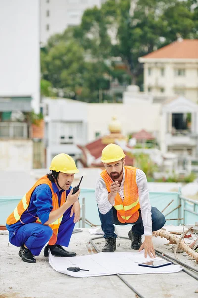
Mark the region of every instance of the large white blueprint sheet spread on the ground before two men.
<instances>
[{"instance_id":1,"label":"large white blueprint sheet spread on the ground before two men","mask_svg":"<svg viewBox=\"0 0 198 298\"><path fill-rule=\"evenodd\" d=\"M161 260L157 257L156 259ZM139 266L138 263L153 260L144 257L141 252L100 252L80 257L54 257L49 253L49 263L58 272L74 277L90 277L111 274L152 274L176 273L182 270L180 265L168 265L160 268ZM68 271L68 267L80 267L89 271Z\"/></svg>"}]
</instances>

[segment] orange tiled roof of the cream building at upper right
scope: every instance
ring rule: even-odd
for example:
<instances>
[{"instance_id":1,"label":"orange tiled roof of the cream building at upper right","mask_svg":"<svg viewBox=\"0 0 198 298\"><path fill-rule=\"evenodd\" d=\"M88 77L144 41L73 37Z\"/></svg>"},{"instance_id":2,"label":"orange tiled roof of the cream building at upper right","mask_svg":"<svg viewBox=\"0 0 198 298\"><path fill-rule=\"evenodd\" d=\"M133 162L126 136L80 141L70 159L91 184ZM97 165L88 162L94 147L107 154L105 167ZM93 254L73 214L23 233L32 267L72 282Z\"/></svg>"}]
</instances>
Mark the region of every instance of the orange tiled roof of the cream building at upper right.
<instances>
[{"instance_id":1,"label":"orange tiled roof of the cream building at upper right","mask_svg":"<svg viewBox=\"0 0 198 298\"><path fill-rule=\"evenodd\" d=\"M183 58L198 59L198 39L183 39L175 41L142 58Z\"/></svg>"}]
</instances>

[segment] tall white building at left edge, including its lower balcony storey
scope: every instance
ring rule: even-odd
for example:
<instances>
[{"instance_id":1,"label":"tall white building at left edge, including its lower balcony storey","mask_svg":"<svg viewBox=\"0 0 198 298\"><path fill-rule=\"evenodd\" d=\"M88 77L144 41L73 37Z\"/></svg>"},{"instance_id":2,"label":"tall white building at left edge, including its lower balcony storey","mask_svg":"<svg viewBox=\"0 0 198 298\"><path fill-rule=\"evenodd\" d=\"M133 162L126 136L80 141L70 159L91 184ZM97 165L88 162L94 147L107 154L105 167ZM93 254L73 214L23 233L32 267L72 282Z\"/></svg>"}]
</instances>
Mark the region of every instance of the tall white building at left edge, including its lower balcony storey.
<instances>
[{"instance_id":1,"label":"tall white building at left edge, including its lower balcony storey","mask_svg":"<svg viewBox=\"0 0 198 298\"><path fill-rule=\"evenodd\" d=\"M39 0L0 0L0 169L33 166L31 126L40 105Z\"/></svg>"}]
</instances>

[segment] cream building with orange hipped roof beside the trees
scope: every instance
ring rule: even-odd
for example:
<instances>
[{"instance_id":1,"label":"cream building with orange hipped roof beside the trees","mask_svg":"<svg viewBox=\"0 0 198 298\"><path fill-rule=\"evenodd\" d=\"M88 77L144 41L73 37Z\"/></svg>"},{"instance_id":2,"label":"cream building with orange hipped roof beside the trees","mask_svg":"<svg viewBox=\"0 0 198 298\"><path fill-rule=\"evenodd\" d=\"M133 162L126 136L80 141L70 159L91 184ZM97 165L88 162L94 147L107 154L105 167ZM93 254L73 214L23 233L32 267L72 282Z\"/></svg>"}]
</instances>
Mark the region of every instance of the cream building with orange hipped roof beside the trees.
<instances>
[{"instance_id":1,"label":"cream building with orange hipped roof beside the trees","mask_svg":"<svg viewBox=\"0 0 198 298\"><path fill-rule=\"evenodd\" d=\"M198 39L181 39L146 56L144 91L154 102L182 95L198 103Z\"/></svg>"}]
</instances>

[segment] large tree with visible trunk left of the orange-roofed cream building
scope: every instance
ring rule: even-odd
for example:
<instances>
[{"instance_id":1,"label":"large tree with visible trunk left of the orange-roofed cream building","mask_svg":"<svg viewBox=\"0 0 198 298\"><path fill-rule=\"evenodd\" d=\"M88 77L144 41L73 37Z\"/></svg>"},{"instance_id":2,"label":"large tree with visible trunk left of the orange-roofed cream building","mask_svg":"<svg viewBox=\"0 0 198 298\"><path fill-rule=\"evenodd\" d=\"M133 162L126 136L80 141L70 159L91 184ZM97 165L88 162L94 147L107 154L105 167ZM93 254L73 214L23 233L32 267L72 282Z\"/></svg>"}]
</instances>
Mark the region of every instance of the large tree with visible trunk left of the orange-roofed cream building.
<instances>
[{"instance_id":1,"label":"large tree with visible trunk left of the orange-roofed cream building","mask_svg":"<svg viewBox=\"0 0 198 298\"><path fill-rule=\"evenodd\" d=\"M93 57L121 57L132 84L142 73L138 57L183 38L197 36L192 0L108 0L84 12L76 30L82 46Z\"/></svg>"}]
</instances>

